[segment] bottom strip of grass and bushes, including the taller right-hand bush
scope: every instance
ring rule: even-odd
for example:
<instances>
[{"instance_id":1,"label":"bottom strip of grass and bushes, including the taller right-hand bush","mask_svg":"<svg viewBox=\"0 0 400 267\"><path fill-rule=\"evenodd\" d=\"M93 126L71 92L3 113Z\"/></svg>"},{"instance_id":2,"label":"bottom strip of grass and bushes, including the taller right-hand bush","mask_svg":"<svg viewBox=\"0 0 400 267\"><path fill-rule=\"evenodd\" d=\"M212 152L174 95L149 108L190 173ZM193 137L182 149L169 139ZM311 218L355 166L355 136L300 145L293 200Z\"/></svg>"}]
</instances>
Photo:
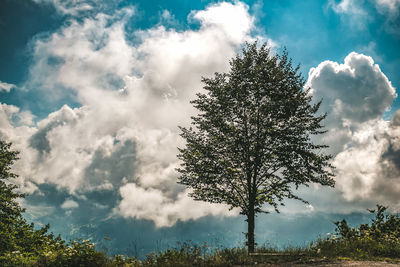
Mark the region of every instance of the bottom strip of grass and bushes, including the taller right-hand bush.
<instances>
[{"instance_id":1,"label":"bottom strip of grass and bushes, including the taller right-hand bush","mask_svg":"<svg viewBox=\"0 0 400 267\"><path fill-rule=\"evenodd\" d=\"M377 206L371 224L350 227L335 222L335 233L303 247L261 246L249 255L246 248L215 248L208 243L185 242L177 247L148 254L144 259L123 255L108 257L89 240L66 243L52 234L38 235L37 251L11 251L0 255L1 266L250 266L256 263L315 263L337 260L374 260L400 263L400 216L384 214ZM36 232L35 232L36 233ZM30 239L29 239L30 240ZM38 242L36 242L38 243ZM35 243L35 244L36 244ZM38 243L38 244L39 244Z\"/></svg>"}]
</instances>

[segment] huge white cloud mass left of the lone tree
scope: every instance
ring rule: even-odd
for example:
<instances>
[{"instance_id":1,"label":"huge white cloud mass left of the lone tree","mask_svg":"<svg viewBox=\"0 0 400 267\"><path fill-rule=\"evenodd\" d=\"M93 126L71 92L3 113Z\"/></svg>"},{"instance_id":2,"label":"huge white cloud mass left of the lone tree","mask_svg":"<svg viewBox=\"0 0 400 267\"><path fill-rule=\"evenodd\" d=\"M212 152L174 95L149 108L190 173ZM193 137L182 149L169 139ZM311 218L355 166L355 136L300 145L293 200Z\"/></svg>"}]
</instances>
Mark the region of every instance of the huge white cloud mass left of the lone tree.
<instances>
[{"instance_id":1,"label":"huge white cloud mass left of the lone tree","mask_svg":"<svg viewBox=\"0 0 400 267\"><path fill-rule=\"evenodd\" d=\"M54 101L72 95L81 106L64 105L36 126L13 124L7 114L21 112L5 106L0 133L22 152L19 182L35 194L46 184L66 190L70 197L60 205L68 212L84 206L81 201L94 192L116 192L120 200L110 202L116 203L113 214L157 226L229 216L225 206L191 200L176 183L182 145L177 126L187 125L195 112L189 101L202 88L201 76L226 71L229 59L251 39L248 7L210 5L190 15L199 21L198 30L182 32L159 25L127 34L133 15L125 8L72 20L36 41L25 88L40 88ZM91 201L104 207L99 198Z\"/></svg>"}]
</instances>

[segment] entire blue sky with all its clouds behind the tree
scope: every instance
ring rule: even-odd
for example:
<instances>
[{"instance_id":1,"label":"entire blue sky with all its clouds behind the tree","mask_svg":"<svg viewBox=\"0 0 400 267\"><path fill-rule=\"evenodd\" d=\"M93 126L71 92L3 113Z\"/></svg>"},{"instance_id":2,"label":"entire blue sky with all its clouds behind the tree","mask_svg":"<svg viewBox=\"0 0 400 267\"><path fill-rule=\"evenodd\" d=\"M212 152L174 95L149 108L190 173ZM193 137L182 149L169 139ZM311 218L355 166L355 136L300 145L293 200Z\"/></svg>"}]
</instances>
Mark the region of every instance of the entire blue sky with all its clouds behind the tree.
<instances>
[{"instance_id":1,"label":"entire blue sky with all its clouds behind the tree","mask_svg":"<svg viewBox=\"0 0 400 267\"><path fill-rule=\"evenodd\" d=\"M335 188L300 187L256 241L304 245L333 221L400 211L399 0L2 0L0 138L20 159L26 217L143 256L176 242L244 245L244 218L176 183L178 126L201 77L245 42L284 48L321 112ZM106 239L104 237L107 237Z\"/></svg>"}]
</instances>

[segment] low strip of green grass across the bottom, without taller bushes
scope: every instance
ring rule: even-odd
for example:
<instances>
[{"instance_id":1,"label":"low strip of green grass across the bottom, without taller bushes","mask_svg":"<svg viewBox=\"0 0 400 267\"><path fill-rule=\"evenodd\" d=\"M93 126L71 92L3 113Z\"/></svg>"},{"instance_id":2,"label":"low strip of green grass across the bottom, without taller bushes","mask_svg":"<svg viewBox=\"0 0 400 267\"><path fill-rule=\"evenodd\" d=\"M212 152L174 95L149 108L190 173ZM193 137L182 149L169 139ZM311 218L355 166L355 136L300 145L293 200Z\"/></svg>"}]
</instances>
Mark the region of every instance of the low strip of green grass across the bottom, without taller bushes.
<instances>
[{"instance_id":1,"label":"low strip of green grass across the bottom, without taller bushes","mask_svg":"<svg viewBox=\"0 0 400 267\"><path fill-rule=\"evenodd\" d=\"M266 263L315 263L336 260L376 260L400 262L400 244L378 242L373 239L328 238L319 239L308 246L259 247L255 255L247 249L212 248L207 243L190 242L164 251L150 253L139 260L123 255L108 257L95 250L89 241L71 242L57 251L48 251L39 257L10 253L1 258L2 266L249 266Z\"/></svg>"}]
</instances>

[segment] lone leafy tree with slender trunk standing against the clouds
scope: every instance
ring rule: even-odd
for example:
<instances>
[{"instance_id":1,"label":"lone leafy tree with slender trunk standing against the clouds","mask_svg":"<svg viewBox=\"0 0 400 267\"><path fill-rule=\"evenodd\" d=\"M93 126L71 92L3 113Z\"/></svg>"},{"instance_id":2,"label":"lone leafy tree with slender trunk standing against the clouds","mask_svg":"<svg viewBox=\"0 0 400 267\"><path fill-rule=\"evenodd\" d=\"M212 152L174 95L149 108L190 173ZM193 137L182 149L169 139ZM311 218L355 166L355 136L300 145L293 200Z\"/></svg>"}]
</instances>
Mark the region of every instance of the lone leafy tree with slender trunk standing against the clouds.
<instances>
[{"instance_id":1,"label":"lone leafy tree with slender trunk standing against the clouds","mask_svg":"<svg viewBox=\"0 0 400 267\"><path fill-rule=\"evenodd\" d=\"M299 67L286 51L271 55L264 44L246 44L230 61L228 73L202 78L205 93L191 101L199 114L190 128L179 127L186 147L179 148L179 183L195 200L225 203L247 217L248 252L254 252L257 213L268 204L279 212L284 198L309 183L334 186L327 146L314 144L322 134Z\"/></svg>"}]
</instances>

